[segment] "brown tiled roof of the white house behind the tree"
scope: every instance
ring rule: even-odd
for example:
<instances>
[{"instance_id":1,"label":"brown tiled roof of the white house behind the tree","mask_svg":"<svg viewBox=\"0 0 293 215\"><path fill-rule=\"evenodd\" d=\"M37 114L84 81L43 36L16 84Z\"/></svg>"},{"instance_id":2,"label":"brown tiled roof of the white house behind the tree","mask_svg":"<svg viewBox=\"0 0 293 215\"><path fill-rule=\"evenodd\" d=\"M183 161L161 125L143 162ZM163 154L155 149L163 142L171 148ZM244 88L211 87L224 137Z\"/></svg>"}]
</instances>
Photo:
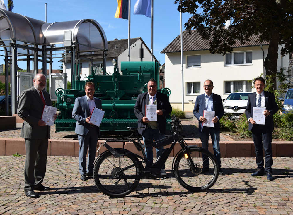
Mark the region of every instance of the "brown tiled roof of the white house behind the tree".
<instances>
[{"instance_id":1,"label":"brown tiled roof of the white house behind the tree","mask_svg":"<svg viewBox=\"0 0 293 215\"><path fill-rule=\"evenodd\" d=\"M183 31L183 51L199 51L199 50L208 50L209 49L209 40L202 39L199 33L196 30L191 31L192 34L189 34L187 31ZM241 44L239 41L236 42L234 47L247 47L247 46L258 46L258 45L267 45L268 42L260 43L256 40L258 35L253 35L249 38L250 41ZM180 52L180 35L178 35L168 46L166 46L161 53L170 53L170 52Z\"/></svg>"}]
</instances>

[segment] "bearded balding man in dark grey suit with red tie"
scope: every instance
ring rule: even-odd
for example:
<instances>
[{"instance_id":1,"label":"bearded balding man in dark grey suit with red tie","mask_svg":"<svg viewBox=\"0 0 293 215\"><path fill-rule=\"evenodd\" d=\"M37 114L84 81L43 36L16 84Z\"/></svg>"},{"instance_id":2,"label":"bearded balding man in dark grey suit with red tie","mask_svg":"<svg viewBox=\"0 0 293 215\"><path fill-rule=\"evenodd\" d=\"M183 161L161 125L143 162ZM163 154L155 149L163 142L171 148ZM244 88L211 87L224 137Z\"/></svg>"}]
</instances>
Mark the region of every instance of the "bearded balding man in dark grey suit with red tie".
<instances>
[{"instance_id":1,"label":"bearded balding man in dark grey suit with red tie","mask_svg":"<svg viewBox=\"0 0 293 215\"><path fill-rule=\"evenodd\" d=\"M21 128L26 152L24 193L28 197L37 198L39 195L34 190L50 190L49 187L42 185L46 173L50 126L47 126L41 118L44 106L52 106L52 102L49 93L43 90L46 86L45 75L36 74L33 82L33 87L21 93L17 113L24 120Z\"/></svg>"}]
</instances>

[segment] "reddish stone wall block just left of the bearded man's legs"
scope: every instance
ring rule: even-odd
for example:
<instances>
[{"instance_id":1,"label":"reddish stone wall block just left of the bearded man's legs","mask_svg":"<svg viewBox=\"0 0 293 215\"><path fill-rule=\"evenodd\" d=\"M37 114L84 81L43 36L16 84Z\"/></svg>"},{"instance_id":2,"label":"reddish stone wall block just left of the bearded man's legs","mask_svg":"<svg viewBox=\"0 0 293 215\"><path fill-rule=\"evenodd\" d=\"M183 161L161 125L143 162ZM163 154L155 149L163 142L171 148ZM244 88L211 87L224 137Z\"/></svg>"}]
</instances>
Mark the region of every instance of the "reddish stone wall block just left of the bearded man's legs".
<instances>
[{"instance_id":1,"label":"reddish stone wall block just left of the bearded man's legs","mask_svg":"<svg viewBox=\"0 0 293 215\"><path fill-rule=\"evenodd\" d=\"M23 138L11 138L5 141L5 155L15 153L25 155L25 141Z\"/></svg>"}]
</instances>

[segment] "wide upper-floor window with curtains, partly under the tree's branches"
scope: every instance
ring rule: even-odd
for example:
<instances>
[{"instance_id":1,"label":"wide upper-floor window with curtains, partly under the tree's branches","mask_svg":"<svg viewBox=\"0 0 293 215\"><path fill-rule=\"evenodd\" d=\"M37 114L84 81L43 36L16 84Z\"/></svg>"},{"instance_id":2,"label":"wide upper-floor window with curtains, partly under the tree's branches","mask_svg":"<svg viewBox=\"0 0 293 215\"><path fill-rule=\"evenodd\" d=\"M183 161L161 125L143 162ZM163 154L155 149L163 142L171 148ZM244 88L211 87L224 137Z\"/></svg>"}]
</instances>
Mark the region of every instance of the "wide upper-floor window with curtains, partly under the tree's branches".
<instances>
[{"instance_id":1,"label":"wide upper-floor window with curtains, partly under the tree's branches","mask_svg":"<svg viewBox=\"0 0 293 215\"><path fill-rule=\"evenodd\" d=\"M252 63L252 51L233 52L225 55L225 65Z\"/></svg>"}]
</instances>

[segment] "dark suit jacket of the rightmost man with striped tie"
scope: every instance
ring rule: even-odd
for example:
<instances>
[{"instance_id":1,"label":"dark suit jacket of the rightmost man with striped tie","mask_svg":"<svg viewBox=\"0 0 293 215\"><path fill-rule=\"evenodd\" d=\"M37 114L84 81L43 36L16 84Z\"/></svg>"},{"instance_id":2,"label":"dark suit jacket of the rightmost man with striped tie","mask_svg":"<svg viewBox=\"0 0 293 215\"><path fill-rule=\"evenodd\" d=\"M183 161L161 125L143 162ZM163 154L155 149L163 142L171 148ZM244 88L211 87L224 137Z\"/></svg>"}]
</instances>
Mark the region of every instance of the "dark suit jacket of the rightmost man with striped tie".
<instances>
[{"instance_id":1,"label":"dark suit jacket of the rightmost man with striped tie","mask_svg":"<svg viewBox=\"0 0 293 215\"><path fill-rule=\"evenodd\" d=\"M274 130L273 115L277 113L277 111L279 110L279 107L275 101L275 95L273 93L267 92L267 91L264 91L264 93L265 93L265 109L270 111L270 115L265 117L265 128L269 132L272 132ZM245 110L247 120L250 117L252 117L253 107L256 107L255 98L256 98L256 92L248 95L248 102L247 102L247 107ZM251 130L252 128L253 128L253 124L249 122L248 129Z\"/></svg>"}]
</instances>

